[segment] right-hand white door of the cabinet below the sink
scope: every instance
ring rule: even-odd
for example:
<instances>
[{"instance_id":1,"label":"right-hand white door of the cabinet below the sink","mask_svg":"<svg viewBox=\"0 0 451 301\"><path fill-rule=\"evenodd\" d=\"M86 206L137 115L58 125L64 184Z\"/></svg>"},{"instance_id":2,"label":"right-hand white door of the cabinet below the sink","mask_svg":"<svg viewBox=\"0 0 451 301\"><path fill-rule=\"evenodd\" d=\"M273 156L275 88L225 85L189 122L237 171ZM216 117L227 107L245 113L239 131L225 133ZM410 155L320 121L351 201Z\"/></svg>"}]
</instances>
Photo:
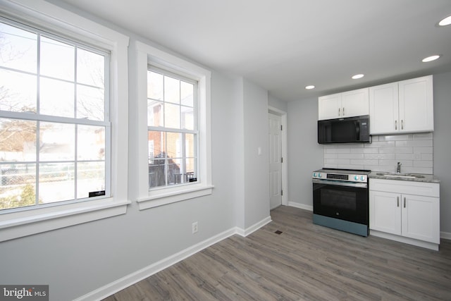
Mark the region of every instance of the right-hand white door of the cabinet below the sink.
<instances>
[{"instance_id":1,"label":"right-hand white door of the cabinet below the sink","mask_svg":"<svg viewBox=\"0 0 451 301\"><path fill-rule=\"evenodd\" d=\"M440 202L438 197L402 195L402 235L440 243Z\"/></svg>"}]
</instances>

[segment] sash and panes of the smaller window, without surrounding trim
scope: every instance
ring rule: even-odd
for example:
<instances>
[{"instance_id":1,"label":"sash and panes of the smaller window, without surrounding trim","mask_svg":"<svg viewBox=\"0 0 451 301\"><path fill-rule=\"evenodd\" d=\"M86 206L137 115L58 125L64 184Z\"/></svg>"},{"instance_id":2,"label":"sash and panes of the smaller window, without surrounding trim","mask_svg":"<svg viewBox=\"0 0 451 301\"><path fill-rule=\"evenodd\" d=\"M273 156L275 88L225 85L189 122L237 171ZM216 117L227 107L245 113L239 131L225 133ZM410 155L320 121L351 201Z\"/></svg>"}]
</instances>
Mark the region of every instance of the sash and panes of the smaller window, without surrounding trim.
<instances>
[{"instance_id":1,"label":"sash and panes of the smaller window, without surrounding trim","mask_svg":"<svg viewBox=\"0 0 451 301\"><path fill-rule=\"evenodd\" d=\"M197 82L147 71L149 188L197 181Z\"/></svg>"}]
</instances>

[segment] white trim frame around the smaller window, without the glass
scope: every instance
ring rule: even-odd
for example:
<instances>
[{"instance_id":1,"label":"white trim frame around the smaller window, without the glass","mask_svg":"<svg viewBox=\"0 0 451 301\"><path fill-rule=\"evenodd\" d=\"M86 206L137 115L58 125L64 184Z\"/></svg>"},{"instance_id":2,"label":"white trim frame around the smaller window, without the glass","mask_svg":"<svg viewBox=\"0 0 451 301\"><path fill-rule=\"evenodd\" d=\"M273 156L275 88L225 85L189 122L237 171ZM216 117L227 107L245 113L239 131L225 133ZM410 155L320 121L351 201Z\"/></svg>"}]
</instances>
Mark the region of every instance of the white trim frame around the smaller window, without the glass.
<instances>
[{"instance_id":1,"label":"white trim frame around the smaller window, without the glass","mask_svg":"<svg viewBox=\"0 0 451 301\"><path fill-rule=\"evenodd\" d=\"M211 195L211 71L194 63L180 59L161 49L135 41L135 87L130 94L130 121L135 121L130 129L130 199L135 199L140 210L185 199ZM154 66L197 80L197 116L199 130L199 183L180 185L159 190L149 190L147 171L147 69ZM133 146L133 147L131 147ZM134 167L134 168L133 168Z\"/></svg>"}]
</instances>

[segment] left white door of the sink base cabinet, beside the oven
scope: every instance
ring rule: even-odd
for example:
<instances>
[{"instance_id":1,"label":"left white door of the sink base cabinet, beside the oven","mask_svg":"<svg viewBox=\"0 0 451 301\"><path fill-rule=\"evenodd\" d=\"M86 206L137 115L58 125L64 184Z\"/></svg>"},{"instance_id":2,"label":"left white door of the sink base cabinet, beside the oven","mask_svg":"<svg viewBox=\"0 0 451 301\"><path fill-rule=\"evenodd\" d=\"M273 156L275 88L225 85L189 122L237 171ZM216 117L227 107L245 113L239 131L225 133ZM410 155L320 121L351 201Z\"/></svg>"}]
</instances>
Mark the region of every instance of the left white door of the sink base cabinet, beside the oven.
<instances>
[{"instance_id":1,"label":"left white door of the sink base cabinet, beside the oven","mask_svg":"<svg viewBox=\"0 0 451 301\"><path fill-rule=\"evenodd\" d=\"M369 228L401 235L401 195L393 192L369 192Z\"/></svg>"}]
</instances>

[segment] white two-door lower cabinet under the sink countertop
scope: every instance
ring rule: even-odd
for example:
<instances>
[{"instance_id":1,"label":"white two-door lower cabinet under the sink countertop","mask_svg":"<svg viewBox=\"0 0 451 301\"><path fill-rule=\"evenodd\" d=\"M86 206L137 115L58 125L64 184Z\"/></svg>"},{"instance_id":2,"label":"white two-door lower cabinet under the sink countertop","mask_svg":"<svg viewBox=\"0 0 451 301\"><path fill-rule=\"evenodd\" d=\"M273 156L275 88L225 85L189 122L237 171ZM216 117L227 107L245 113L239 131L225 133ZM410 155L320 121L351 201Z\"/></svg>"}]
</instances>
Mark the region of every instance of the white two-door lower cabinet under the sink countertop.
<instances>
[{"instance_id":1,"label":"white two-door lower cabinet under the sink countertop","mask_svg":"<svg viewBox=\"0 0 451 301\"><path fill-rule=\"evenodd\" d=\"M438 250L440 184L370 179L370 235Z\"/></svg>"}]
</instances>

